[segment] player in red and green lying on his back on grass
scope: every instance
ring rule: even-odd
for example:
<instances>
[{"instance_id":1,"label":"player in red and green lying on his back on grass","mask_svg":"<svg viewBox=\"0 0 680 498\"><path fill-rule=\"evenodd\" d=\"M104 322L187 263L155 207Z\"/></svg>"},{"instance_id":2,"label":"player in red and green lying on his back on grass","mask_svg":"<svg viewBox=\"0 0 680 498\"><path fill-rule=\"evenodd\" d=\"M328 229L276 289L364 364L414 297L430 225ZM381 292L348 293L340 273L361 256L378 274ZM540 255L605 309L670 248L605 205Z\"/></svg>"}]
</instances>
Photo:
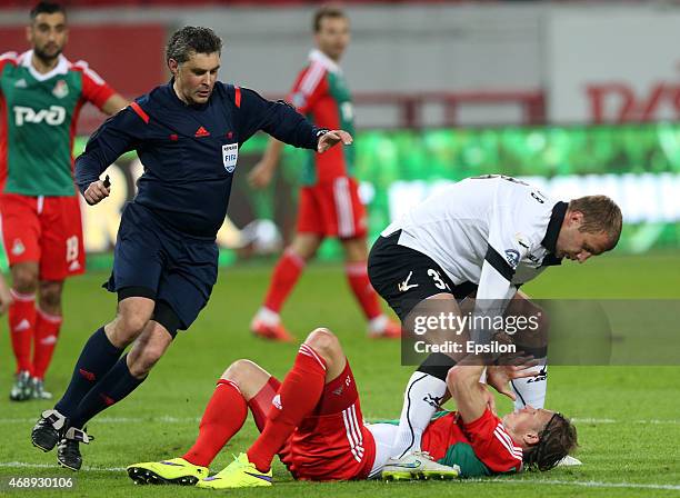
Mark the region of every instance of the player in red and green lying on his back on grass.
<instances>
[{"instance_id":1,"label":"player in red and green lying on his back on grass","mask_svg":"<svg viewBox=\"0 0 680 498\"><path fill-rule=\"evenodd\" d=\"M484 367L453 367L447 382L458 411L440 414L411 461L386 466L398 427L364 425L359 394L338 338L316 329L300 346L283 382L248 360L234 361L218 381L194 445L180 458L128 467L138 484L197 484L201 488L271 486L276 455L296 479L454 478L552 468L577 444L560 414L526 407L501 420L479 382ZM492 406L492 405L491 405ZM219 474L208 466L241 429L248 408L261 431Z\"/></svg>"}]
</instances>

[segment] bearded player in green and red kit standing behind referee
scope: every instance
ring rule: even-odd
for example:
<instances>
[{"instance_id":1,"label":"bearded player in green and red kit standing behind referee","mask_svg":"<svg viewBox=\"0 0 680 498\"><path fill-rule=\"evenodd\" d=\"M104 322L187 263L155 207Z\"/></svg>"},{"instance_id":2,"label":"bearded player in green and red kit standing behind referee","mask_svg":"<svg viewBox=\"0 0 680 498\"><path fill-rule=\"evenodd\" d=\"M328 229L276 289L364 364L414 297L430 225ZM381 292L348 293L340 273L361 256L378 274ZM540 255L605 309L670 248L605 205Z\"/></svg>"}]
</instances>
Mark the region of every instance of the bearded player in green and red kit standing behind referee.
<instances>
[{"instance_id":1,"label":"bearded player in green and red kit standing behind referee","mask_svg":"<svg viewBox=\"0 0 680 498\"><path fill-rule=\"evenodd\" d=\"M52 397L43 379L61 328L63 281L84 271L71 156L80 109L91 102L113 114L128 103L86 62L63 57L69 29L61 6L40 2L30 20L31 50L0 56L0 212L12 275L13 401Z\"/></svg>"}]
</instances>

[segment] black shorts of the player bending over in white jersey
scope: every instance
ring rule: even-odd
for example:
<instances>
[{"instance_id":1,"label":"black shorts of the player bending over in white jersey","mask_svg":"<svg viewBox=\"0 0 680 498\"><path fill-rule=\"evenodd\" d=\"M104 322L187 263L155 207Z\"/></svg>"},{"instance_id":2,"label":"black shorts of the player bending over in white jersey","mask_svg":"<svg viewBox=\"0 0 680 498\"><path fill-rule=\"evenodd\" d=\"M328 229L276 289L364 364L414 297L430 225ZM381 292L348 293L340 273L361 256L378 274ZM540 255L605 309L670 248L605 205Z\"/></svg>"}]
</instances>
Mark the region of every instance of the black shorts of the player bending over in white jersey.
<instances>
[{"instance_id":1,"label":"black shorts of the player bending over in white jersey","mask_svg":"<svg viewBox=\"0 0 680 498\"><path fill-rule=\"evenodd\" d=\"M399 246L401 230L379 237L368 259L368 273L376 291L390 305L401 321L423 299L450 293L462 300L477 291L477 285L454 285L449 276L428 256Z\"/></svg>"}]
</instances>

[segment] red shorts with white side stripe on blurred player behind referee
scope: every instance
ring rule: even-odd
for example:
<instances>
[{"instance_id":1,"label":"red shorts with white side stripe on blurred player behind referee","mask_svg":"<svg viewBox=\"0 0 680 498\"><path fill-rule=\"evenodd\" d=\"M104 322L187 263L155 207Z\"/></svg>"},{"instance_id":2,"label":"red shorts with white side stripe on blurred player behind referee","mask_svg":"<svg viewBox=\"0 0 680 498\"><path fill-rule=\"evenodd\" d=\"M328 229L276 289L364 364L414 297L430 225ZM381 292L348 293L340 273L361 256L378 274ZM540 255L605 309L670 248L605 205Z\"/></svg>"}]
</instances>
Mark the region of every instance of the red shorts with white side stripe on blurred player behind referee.
<instances>
[{"instance_id":1,"label":"red shorts with white side stripe on blurred player behind referee","mask_svg":"<svg viewBox=\"0 0 680 498\"><path fill-rule=\"evenodd\" d=\"M353 239L366 236L366 208L353 178L339 177L300 190L298 232Z\"/></svg>"}]
</instances>

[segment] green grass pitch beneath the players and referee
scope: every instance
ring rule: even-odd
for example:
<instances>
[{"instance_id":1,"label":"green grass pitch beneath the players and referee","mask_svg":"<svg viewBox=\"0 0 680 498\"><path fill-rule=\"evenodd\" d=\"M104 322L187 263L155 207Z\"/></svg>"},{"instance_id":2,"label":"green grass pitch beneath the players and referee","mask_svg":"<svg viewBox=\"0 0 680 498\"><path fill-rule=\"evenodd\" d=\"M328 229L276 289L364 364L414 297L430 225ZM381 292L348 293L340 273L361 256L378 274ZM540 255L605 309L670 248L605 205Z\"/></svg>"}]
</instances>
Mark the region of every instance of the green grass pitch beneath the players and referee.
<instances>
[{"instance_id":1,"label":"green grass pitch beneath the players and referee","mask_svg":"<svg viewBox=\"0 0 680 498\"><path fill-rule=\"evenodd\" d=\"M224 368L250 358L278 377L297 351L294 345L269 343L250 336L250 318L264 293L271 268L247 265L221 272L212 299L192 329L181 333L149 379L128 399L90 422L97 438L83 448L78 474L56 466L54 452L30 444L30 429L50 402L10 404L13 370L9 335L2 318L0 350L0 495L9 477L74 477L71 491L9 491L19 496L180 497L202 491L178 487L134 487L122 470L137 461L183 454L193 441L198 419ZM114 311L116 298L100 289L106 276L72 279L66 289L66 321L48 374L48 388L59 396L86 338ZM584 266L566 263L527 286L534 297L680 298L680 256L606 256ZM680 301L679 301L680 302ZM371 341L348 290L340 266L311 265L284 309L286 325L303 339L318 326L333 330L350 358L367 418L394 418L411 368L399 365L398 341ZM680 330L678 331L680 333ZM296 482L277 462L270 489L231 496L269 497L431 497L442 496L678 496L680 497L680 368L553 367L549 408L577 422L582 467L462 482ZM510 404L499 400L504 412ZM220 454L220 470L256 436L249 419Z\"/></svg>"}]
</instances>

